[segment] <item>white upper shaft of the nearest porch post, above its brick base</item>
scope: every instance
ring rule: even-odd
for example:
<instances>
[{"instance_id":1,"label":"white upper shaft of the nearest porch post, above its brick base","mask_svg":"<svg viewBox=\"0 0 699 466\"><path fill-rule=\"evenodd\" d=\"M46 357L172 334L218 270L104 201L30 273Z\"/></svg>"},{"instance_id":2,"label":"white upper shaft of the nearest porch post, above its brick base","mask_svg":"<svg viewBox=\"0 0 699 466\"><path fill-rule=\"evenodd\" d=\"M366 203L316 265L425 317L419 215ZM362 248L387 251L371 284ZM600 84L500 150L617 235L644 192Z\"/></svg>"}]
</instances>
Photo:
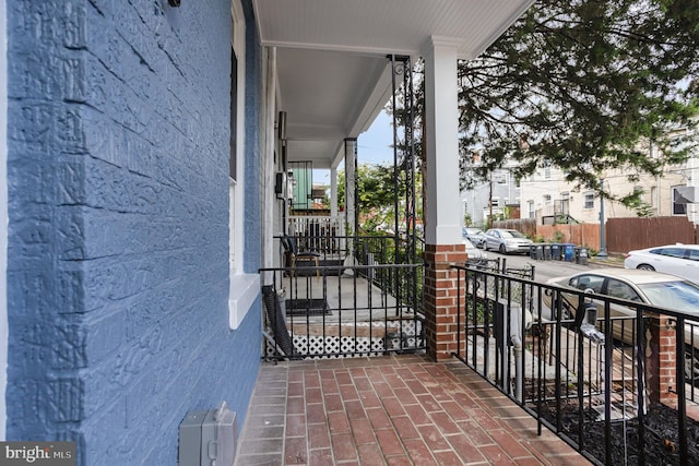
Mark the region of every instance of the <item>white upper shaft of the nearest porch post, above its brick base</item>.
<instances>
[{"instance_id":1,"label":"white upper shaft of the nearest porch post, above its brick base","mask_svg":"<svg viewBox=\"0 0 699 466\"><path fill-rule=\"evenodd\" d=\"M457 48L461 40L433 36L425 58L428 244L461 243Z\"/></svg>"}]
</instances>

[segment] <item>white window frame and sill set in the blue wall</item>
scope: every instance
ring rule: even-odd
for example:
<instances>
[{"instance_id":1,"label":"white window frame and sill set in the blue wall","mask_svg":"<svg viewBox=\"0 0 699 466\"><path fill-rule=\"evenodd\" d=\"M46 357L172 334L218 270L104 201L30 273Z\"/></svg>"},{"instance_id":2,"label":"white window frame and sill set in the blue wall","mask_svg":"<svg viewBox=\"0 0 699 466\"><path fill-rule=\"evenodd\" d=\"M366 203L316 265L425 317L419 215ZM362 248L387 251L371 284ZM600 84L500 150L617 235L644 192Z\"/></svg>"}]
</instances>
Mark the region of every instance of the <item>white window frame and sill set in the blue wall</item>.
<instances>
[{"instance_id":1,"label":"white window frame and sill set in the blue wall","mask_svg":"<svg viewBox=\"0 0 699 466\"><path fill-rule=\"evenodd\" d=\"M239 0L232 2L230 44L237 58L236 101L236 179L229 178L228 250L230 288L228 290L228 326L236 330L260 294L260 275L246 274L245 250L245 15Z\"/></svg>"}]
</instances>

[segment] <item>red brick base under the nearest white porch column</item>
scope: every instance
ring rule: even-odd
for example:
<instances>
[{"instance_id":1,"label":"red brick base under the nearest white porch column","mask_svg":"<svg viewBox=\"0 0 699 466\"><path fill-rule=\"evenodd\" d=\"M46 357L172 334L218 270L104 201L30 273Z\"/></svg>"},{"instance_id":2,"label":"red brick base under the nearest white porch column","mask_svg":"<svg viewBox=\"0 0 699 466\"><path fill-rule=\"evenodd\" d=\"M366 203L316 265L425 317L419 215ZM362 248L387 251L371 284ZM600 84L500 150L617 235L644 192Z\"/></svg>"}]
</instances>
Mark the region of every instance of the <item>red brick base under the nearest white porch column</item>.
<instances>
[{"instance_id":1,"label":"red brick base under the nearest white porch column","mask_svg":"<svg viewBox=\"0 0 699 466\"><path fill-rule=\"evenodd\" d=\"M425 337L427 355L436 361L451 358L457 351L459 274L451 266L465 262L463 244L425 246Z\"/></svg>"}]
</instances>

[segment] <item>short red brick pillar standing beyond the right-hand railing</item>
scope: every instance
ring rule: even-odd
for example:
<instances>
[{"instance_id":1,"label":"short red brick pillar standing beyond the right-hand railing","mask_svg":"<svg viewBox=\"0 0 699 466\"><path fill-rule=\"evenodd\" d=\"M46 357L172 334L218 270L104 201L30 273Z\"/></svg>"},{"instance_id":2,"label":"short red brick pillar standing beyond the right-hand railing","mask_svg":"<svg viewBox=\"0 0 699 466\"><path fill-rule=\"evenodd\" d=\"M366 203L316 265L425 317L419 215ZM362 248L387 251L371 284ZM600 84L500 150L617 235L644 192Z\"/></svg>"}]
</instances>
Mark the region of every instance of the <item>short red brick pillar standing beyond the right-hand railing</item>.
<instances>
[{"instance_id":1,"label":"short red brick pillar standing beyond the right-hand railing","mask_svg":"<svg viewBox=\"0 0 699 466\"><path fill-rule=\"evenodd\" d=\"M677 390L676 324L673 318L652 314L647 318L650 337L645 347L647 389L651 403L674 402ZM672 390L672 392L671 392Z\"/></svg>"}]
</instances>

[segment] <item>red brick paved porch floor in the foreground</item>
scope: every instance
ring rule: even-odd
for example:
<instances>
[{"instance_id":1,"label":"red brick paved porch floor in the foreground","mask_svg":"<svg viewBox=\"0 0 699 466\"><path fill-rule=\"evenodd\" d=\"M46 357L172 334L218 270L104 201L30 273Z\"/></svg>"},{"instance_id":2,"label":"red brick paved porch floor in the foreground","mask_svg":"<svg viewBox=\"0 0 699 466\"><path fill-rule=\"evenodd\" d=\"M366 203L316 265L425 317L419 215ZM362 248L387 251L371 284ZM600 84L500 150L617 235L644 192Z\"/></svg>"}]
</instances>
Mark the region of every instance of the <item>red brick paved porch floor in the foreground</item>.
<instances>
[{"instance_id":1,"label":"red brick paved porch floor in the foreground","mask_svg":"<svg viewBox=\"0 0 699 466\"><path fill-rule=\"evenodd\" d=\"M236 466L589 465L458 360L263 363Z\"/></svg>"}]
</instances>

